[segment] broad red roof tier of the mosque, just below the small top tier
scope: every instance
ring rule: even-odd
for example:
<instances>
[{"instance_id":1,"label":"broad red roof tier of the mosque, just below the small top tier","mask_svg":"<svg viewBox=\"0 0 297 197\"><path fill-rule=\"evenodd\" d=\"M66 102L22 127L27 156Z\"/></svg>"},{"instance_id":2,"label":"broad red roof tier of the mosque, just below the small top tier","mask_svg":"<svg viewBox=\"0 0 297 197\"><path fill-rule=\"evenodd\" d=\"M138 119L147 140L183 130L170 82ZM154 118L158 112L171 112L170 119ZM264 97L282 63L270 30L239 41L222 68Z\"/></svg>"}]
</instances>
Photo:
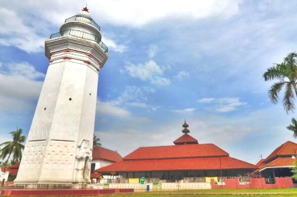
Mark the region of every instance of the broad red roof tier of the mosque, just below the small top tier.
<instances>
[{"instance_id":1,"label":"broad red roof tier of the mosque, just below the small top tier","mask_svg":"<svg viewBox=\"0 0 297 197\"><path fill-rule=\"evenodd\" d=\"M139 147L124 160L229 156L213 143Z\"/></svg>"}]
</instances>

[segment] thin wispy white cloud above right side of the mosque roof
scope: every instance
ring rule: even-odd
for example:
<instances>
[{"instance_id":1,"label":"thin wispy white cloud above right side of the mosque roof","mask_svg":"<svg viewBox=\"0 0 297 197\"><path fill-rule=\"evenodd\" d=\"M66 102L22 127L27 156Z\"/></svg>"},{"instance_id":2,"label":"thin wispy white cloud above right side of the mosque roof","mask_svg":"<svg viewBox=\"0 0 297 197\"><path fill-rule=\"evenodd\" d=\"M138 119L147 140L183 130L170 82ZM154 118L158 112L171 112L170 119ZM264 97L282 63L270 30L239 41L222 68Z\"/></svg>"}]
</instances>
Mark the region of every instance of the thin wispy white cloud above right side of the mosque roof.
<instances>
[{"instance_id":1,"label":"thin wispy white cloud above right side of the mosque roof","mask_svg":"<svg viewBox=\"0 0 297 197\"><path fill-rule=\"evenodd\" d=\"M241 102L239 97L201 98L198 102L215 103L215 110L221 113L235 111L238 107L247 105L246 102Z\"/></svg>"}]
</instances>

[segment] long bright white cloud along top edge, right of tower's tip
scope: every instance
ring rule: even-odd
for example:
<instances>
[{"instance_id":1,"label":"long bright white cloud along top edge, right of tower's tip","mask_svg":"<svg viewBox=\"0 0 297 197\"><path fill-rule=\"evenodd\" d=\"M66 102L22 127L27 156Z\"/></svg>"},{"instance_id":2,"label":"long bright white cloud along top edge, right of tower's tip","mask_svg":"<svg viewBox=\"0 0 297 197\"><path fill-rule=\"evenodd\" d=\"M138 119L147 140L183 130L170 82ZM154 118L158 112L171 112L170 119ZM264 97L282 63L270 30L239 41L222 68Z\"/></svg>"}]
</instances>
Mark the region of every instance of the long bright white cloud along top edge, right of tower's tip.
<instances>
[{"instance_id":1,"label":"long bright white cloud along top edge, right of tower's tip","mask_svg":"<svg viewBox=\"0 0 297 197\"><path fill-rule=\"evenodd\" d=\"M142 26L166 18L228 18L238 13L239 1L90 1L90 12L108 23ZM96 5L96 6L95 6ZM93 10L94 9L94 10ZM98 9L98 10L97 10ZM92 14L91 13L91 14Z\"/></svg>"}]
</instances>

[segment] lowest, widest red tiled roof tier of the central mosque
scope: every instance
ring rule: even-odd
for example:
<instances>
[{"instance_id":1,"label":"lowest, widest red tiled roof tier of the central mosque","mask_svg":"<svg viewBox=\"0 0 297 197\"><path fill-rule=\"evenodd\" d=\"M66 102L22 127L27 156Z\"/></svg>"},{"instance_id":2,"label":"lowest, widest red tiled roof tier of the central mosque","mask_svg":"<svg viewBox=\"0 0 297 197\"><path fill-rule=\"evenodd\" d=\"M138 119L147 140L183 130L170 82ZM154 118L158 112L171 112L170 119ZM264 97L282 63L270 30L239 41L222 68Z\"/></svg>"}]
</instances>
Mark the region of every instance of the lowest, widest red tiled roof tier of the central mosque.
<instances>
[{"instance_id":1,"label":"lowest, widest red tiled roof tier of the central mosque","mask_svg":"<svg viewBox=\"0 0 297 197\"><path fill-rule=\"evenodd\" d=\"M221 158L221 159L220 159ZM221 160L221 162L220 162ZM232 157L179 158L157 160L124 160L95 172L132 172L166 170L257 169L258 167Z\"/></svg>"}]
</instances>

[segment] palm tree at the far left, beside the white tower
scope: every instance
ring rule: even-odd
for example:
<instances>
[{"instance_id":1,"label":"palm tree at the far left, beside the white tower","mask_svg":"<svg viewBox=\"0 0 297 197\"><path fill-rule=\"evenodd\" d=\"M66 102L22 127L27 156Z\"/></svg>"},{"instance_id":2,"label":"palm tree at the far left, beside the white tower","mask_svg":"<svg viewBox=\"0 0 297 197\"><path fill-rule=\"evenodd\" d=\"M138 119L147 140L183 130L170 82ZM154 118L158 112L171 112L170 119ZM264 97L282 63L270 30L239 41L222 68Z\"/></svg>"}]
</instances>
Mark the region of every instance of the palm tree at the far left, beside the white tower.
<instances>
[{"instance_id":1,"label":"palm tree at the far left, beside the white tower","mask_svg":"<svg viewBox=\"0 0 297 197\"><path fill-rule=\"evenodd\" d=\"M9 161L11 155L13 155L14 161L21 161L22 159L22 150L24 149L24 145L22 144L25 141L25 135L22 135L23 130L18 129L16 131L10 132L13 137L13 141L6 141L0 144L0 146L4 146L1 150L0 158L3 160L7 158L6 162Z\"/></svg>"}]
</instances>

